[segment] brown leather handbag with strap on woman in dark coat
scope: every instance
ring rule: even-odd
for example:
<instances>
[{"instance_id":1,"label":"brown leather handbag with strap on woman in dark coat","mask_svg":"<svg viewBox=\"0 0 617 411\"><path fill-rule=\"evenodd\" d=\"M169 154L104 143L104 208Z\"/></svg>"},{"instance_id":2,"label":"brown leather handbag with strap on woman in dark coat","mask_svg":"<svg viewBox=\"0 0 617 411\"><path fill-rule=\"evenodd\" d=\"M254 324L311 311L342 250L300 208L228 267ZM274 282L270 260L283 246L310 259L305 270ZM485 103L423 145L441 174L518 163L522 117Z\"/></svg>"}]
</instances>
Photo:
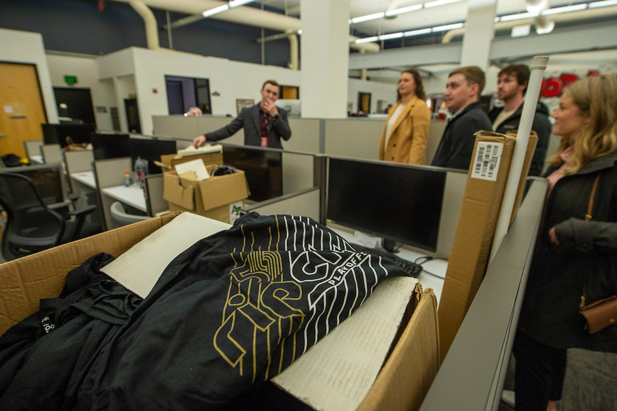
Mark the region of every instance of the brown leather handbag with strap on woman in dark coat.
<instances>
[{"instance_id":1,"label":"brown leather handbag with strap on woman in dark coat","mask_svg":"<svg viewBox=\"0 0 617 411\"><path fill-rule=\"evenodd\" d=\"M598 182L600 181L600 174L594 181L594 186L589 196L589 204L587 206L587 214L585 214L585 221L592 219L592 209L594 207L594 198L596 197L596 188L598 188ZM614 324L617 321L617 295L607 297L594 303L585 306L585 284L583 283L583 294L581 295L581 306L579 312L583 314L587 325L585 329L589 334L599 332L601 329Z\"/></svg>"}]
</instances>

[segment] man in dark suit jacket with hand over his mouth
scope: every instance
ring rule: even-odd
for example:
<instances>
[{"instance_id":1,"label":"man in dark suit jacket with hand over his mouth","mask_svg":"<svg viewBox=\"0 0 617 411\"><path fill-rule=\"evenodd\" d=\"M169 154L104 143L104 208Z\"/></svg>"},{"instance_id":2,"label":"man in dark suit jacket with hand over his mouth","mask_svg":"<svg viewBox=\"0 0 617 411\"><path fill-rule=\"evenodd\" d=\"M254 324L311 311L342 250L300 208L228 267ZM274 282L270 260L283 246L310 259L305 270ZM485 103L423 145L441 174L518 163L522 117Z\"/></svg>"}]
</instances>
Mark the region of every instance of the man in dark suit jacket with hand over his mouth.
<instances>
[{"instance_id":1,"label":"man in dark suit jacket with hand over his mouth","mask_svg":"<svg viewBox=\"0 0 617 411\"><path fill-rule=\"evenodd\" d=\"M289 140L291 130L287 112L275 105L279 98L279 84L267 80L262 86L261 95L262 101L253 107L243 108L238 117L225 127L194 138L193 146L197 148L206 141L223 140L244 128L244 145L282 149L281 138Z\"/></svg>"}]
</instances>

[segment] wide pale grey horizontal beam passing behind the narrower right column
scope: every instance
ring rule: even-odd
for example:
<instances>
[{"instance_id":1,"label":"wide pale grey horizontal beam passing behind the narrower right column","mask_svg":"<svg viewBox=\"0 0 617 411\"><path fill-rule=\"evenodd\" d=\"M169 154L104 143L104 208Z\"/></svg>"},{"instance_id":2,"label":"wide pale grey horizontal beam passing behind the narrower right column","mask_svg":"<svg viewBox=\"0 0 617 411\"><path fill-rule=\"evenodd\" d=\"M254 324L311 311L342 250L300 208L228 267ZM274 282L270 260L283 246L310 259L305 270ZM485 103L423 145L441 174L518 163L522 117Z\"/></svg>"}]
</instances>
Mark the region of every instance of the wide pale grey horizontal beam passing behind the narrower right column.
<instances>
[{"instance_id":1,"label":"wide pale grey horizontal beam passing behind the narrower right column","mask_svg":"<svg viewBox=\"0 0 617 411\"><path fill-rule=\"evenodd\" d=\"M572 53L617 48L617 25L599 23L568 27L542 36L494 38L491 62L520 60L533 55ZM448 43L388 49L379 53L349 55L349 69L381 69L390 66L424 66L426 64L459 64L461 43Z\"/></svg>"}]
</instances>

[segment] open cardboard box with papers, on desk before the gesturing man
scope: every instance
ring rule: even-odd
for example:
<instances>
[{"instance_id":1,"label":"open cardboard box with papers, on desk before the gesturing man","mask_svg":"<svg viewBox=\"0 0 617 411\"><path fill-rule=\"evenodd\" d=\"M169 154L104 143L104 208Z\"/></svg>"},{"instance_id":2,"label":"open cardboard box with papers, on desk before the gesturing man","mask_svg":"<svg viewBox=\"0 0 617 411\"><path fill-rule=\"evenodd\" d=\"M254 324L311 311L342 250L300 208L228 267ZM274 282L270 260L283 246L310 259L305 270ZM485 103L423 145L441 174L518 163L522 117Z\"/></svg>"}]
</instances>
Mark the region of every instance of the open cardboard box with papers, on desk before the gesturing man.
<instances>
[{"instance_id":1,"label":"open cardboard box with papers, on desk before the gesturing man","mask_svg":"<svg viewBox=\"0 0 617 411\"><path fill-rule=\"evenodd\" d=\"M210 171L214 166L206 166ZM196 182L193 173L178 176L176 171L163 175L163 198L170 211L188 211L210 219L233 222L234 210L244 206L249 186L244 171L219 175Z\"/></svg>"}]
</instances>

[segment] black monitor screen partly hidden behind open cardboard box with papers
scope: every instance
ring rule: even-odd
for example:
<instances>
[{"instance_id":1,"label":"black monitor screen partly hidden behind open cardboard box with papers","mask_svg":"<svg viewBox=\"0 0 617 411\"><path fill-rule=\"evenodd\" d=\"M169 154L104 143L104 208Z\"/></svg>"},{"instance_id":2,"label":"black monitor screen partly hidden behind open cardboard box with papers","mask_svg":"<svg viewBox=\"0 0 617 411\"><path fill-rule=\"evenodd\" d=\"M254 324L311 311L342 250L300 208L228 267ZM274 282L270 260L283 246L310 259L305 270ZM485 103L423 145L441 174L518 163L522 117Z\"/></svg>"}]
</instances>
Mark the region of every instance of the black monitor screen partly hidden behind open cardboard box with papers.
<instances>
[{"instance_id":1,"label":"black monitor screen partly hidden behind open cardboard box with papers","mask_svg":"<svg viewBox=\"0 0 617 411\"><path fill-rule=\"evenodd\" d=\"M264 201L283 195L281 151L249 147L223 147L223 162L244 171L249 184L249 200Z\"/></svg>"}]
</instances>

